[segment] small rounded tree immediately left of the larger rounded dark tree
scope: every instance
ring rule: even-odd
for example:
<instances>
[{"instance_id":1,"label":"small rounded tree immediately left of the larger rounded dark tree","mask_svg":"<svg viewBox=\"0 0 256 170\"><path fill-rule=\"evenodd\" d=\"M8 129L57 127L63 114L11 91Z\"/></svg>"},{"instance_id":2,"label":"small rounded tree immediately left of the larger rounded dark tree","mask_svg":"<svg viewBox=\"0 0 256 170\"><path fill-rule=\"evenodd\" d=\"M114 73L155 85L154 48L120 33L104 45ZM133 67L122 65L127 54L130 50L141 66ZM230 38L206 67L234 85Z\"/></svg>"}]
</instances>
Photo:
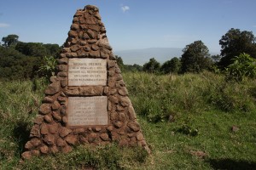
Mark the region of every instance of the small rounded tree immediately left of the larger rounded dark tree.
<instances>
[{"instance_id":1,"label":"small rounded tree immediately left of the larger rounded dark tree","mask_svg":"<svg viewBox=\"0 0 256 170\"><path fill-rule=\"evenodd\" d=\"M181 62L177 57L174 57L170 60L167 60L160 68L165 74L168 73L177 73L180 70Z\"/></svg>"}]
</instances>

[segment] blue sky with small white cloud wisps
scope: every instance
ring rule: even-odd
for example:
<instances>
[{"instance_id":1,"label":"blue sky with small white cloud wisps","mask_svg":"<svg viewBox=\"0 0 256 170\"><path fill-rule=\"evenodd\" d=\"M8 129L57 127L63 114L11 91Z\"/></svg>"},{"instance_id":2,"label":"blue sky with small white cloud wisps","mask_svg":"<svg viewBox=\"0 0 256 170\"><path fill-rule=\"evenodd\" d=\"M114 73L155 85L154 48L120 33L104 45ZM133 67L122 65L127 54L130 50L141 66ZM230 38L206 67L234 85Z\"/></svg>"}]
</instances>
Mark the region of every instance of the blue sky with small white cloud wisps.
<instances>
[{"instance_id":1,"label":"blue sky with small white cloud wisps","mask_svg":"<svg viewBox=\"0 0 256 170\"><path fill-rule=\"evenodd\" d=\"M73 14L87 4L100 9L113 51L201 40L219 53L218 41L231 28L256 33L255 0L0 0L0 38L62 45Z\"/></svg>"}]
</instances>

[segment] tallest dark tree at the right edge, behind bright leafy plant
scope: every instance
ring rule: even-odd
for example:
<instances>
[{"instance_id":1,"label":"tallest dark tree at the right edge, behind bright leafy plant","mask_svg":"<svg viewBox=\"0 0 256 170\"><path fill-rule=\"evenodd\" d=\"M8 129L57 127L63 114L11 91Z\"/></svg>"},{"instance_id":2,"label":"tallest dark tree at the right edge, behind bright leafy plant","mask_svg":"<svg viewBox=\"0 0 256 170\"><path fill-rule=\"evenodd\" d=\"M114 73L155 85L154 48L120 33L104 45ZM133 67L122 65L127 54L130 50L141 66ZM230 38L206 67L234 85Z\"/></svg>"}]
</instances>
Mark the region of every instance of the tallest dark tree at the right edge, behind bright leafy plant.
<instances>
[{"instance_id":1,"label":"tallest dark tree at the right edge, behind bright leafy plant","mask_svg":"<svg viewBox=\"0 0 256 170\"><path fill-rule=\"evenodd\" d=\"M252 31L240 31L231 28L220 40L221 56L218 65L227 67L234 62L235 56L246 53L256 58L256 38Z\"/></svg>"}]
</instances>

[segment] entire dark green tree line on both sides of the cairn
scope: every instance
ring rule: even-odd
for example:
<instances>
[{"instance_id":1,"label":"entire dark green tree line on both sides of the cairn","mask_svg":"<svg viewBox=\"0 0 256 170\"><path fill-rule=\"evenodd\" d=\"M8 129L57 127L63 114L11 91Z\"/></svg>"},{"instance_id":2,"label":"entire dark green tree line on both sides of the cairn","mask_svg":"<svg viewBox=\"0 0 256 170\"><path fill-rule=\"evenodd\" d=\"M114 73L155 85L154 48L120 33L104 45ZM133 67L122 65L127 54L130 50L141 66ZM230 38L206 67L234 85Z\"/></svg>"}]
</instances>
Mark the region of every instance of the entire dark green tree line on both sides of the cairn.
<instances>
[{"instance_id":1,"label":"entire dark green tree line on both sides of the cairn","mask_svg":"<svg viewBox=\"0 0 256 170\"><path fill-rule=\"evenodd\" d=\"M221 50L218 55L211 56L207 46L198 40L183 48L181 57L167 60L163 65L160 65L154 58L149 59L144 65L125 65L120 56L116 56L116 60L122 71L183 74L209 70L232 71L229 72L230 75L249 75L247 72L250 72L252 76L256 75L255 41L256 38L252 31L231 28L219 40ZM58 44L20 42L19 37L15 34L3 37L2 42L3 44L0 46L0 78L32 79L45 75L50 76L55 66L55 59L61 50Z\"/></svg>"}]
</instances>

